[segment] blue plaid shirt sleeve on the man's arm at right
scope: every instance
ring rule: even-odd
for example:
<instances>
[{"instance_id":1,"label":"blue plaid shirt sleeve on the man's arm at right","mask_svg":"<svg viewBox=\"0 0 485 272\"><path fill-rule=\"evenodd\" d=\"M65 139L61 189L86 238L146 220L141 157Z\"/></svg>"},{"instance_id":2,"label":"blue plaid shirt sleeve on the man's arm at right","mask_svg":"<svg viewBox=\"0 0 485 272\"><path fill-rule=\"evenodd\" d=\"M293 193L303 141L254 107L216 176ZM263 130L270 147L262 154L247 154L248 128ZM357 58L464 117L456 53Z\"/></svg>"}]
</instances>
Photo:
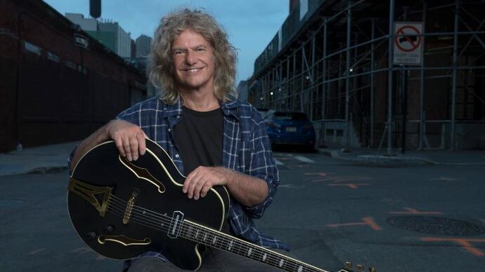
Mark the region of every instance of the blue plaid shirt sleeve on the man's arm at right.
<instances>
[{"instance_id":1,"label":"blue plaid shirt sleeve on the man's arm at right","mask_svg":"<svg viewBox=\"0 0 485 272\"><path fill-rule=\"evenodd\" d=\"M266 132L266 122L260 116L258 117L259 118L255 118L253 121L254 131L252 132L250 142L251 163L249 175L259 177L266 181L269 192L263 202L245 208L247 215L252 218L260 218L263 216L264 210L266 210L273 201L278 184L280 184L278 168L276 168L268 133Z\"/></svg>"}]
</instances>

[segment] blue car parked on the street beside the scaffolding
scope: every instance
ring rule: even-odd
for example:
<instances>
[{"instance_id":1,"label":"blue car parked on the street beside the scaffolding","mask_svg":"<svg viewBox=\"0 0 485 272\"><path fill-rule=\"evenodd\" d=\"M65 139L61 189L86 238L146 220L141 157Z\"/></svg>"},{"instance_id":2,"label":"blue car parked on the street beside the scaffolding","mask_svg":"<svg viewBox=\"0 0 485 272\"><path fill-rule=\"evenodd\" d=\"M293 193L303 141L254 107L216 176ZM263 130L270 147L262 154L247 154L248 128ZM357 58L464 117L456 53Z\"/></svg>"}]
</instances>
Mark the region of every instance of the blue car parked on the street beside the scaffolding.
<instances>
[{"instance_id":1,"label":"blue car parked on the street beside the scaffolding","mask_svg":"<svg viewBox=\"0 0 485 272\"><path fill-rule=\"evenodd\" d=\"M284 144L315 149L315 129L303 112L269 110L266 125L273 147Z\"/></svg>"}]
</instances>

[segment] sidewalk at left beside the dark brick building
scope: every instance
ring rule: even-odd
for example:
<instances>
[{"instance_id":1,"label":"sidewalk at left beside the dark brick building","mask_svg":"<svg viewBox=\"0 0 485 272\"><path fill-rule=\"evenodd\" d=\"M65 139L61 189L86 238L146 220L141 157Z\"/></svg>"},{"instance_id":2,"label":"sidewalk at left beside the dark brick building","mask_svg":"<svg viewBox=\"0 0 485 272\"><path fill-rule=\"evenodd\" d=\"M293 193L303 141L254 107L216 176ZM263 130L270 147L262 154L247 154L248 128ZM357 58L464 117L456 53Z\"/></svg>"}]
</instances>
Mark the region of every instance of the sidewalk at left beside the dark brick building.
<instances>
[{"instance_id":1,"label":"sidewalk at left beside the dark brick building","mask_svg":"<svg viewBox=\"0 0 485 272\"><path fill-rule=\"evenodd\" d=\"M67 170L67 157L78 142L30 147L0 154L0 176Z\"/></svg>"}]
</instances>

